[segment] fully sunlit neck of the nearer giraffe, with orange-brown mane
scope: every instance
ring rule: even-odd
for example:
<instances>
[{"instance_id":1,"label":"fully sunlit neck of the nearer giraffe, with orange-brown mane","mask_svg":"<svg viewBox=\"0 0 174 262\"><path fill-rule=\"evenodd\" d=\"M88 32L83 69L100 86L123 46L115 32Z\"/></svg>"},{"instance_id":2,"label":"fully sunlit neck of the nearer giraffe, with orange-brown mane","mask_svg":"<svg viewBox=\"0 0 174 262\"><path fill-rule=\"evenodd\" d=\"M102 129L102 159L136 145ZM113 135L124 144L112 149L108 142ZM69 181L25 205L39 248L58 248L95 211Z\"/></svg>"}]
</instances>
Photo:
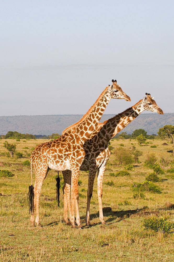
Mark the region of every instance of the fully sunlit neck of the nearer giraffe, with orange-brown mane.
<instances>
[{"instance_id":1,"label":"fully sunlit neck of the nearer giraffe, with orange-brown mane","mask_svg":"<svg viewBox=\"0 0 174 262\"><path fill-rule=\"evenodd\" d=\"M107 90L86 119L74 128L77 136L81 138L83 144L91 137L91 134L96 129L110 99L109 90Z\"/></svg>"}]
</instances>

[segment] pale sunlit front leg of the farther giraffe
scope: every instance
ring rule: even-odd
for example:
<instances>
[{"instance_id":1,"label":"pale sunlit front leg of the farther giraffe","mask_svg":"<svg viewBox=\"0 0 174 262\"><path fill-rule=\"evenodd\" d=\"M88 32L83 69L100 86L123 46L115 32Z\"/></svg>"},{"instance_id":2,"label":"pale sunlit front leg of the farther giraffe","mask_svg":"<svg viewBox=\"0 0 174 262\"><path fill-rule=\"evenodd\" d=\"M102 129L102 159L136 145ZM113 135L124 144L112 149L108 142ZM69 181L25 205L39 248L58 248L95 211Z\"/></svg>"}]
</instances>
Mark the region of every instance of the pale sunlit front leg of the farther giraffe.
<instances>
[{"instance_id":1,"label":"pale sunlit front leg of the farther giraffe","mask_svg":"<svg viewBox=\"0 0 174 262\"><path fill-rule=\"evenodd\" d=\"M105 171L106 164L98 168L97 171L97 194L98 194L98 204L99 204L99 219L102 224L106 224L103 218L103 209L102 209L102 193L103 193L103 176Z\"/></svg>"}]
</instances>

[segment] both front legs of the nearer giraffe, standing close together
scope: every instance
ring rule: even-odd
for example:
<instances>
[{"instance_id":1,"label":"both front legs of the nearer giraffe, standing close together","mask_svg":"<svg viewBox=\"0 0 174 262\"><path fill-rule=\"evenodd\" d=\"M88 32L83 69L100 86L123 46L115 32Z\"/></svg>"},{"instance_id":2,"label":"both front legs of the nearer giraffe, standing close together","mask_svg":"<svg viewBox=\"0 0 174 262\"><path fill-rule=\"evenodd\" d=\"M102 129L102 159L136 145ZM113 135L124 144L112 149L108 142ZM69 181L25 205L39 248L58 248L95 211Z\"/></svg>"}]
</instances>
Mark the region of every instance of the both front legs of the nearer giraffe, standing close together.
<instances>
[{"instance_id":1,"label":"both front legs of the nearer giraffe, standing close together","mask_svg":"<svg viewBox=\"0 0 174 262\"><path fill-rule=\"evenodd\" d=\"M83 228L80 216L79 216L79 209L78 209L78 176L79 176L80 166L72 168L72 176L71 176L71 219L70 222L72 227L75 226L75 216L74 216L74 208L76 208L76 223L78 228Z\"/></svg>"}]
</instances>

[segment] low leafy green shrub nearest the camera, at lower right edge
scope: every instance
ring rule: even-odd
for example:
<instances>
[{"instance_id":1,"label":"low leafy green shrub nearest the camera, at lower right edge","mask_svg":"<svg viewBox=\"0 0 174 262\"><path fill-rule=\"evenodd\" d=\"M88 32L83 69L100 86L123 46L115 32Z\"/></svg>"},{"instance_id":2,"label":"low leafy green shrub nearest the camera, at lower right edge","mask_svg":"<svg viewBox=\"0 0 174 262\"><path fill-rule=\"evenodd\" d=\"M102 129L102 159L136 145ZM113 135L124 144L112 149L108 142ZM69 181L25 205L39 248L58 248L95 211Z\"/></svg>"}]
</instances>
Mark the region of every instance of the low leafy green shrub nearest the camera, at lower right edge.
<instances>
[{"instance_id":1,"label":"low leafy green shrub nearest the camera, at lower right edge","mask_svg":"<svg viewBox=\"0 0 174 262\"><path fill-rule=\"evenodd\" d=\"M167 218L150 217L145 218L142 225L145 229L150 229L155 232L162 231L164 233L174 232L174 222L167 221Z\"/></svg>"}]
</instances>

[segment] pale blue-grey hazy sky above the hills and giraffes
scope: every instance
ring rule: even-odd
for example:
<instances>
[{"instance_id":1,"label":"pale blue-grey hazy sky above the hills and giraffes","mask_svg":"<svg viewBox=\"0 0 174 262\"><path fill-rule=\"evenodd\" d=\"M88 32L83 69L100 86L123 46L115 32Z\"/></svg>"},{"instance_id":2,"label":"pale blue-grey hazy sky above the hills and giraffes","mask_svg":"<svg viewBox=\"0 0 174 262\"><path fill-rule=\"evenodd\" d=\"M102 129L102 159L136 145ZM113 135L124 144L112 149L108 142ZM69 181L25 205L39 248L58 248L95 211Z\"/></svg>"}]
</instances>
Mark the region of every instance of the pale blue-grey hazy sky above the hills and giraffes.
<instances>
[{"instance_id":1,"label":"pale blue-grey hazy sky above the hills and giraffes","mask_svg":"<svg viewBox=\"0 0 174 262\"><path fill-rule=\"evenodd\" d=\"M1 1L0 115L85 114L112 79L173 113L174 1ZM147 113L147 111L144 111Z\"/></svg>"}]
</instances>

